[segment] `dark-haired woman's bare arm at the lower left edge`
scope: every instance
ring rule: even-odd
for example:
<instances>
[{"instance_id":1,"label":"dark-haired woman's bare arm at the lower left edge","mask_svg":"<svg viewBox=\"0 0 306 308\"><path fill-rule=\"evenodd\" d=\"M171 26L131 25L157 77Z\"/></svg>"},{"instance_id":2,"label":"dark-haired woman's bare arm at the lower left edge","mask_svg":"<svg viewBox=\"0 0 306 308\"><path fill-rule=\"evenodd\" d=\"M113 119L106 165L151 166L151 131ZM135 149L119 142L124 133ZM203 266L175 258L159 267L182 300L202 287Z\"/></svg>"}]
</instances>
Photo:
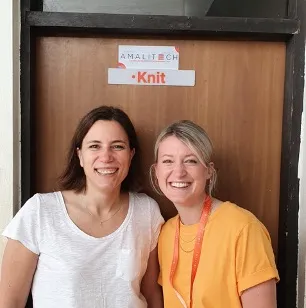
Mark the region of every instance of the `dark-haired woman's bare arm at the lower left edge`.
<instances>
[{"instance_id":1,"label":"dark-haired woman's bare arm at the lower left edge","mask_svg":"<svg viewBox=\"0 0 306 308\"><path fill-rule=\"evenodd\" d=\"M20 242L8 240L1 268L0 308L25 307L37 261L38 255Z\"/></svg>"}]
</instances>

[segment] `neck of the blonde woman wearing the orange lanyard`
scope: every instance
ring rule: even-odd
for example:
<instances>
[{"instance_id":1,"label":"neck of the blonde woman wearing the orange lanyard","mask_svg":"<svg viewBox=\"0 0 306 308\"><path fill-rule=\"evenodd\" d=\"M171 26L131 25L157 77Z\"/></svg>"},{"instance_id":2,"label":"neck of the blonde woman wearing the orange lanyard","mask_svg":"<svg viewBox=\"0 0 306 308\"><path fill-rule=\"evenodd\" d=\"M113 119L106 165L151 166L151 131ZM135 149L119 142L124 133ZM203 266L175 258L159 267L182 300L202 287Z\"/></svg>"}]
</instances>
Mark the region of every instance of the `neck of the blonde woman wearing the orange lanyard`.
<instances>
[{"instance_id":1,"label":"neck of the blonde woman wearing the orange lanyard","mask_svg":"<svg viewBox=\"0 0 306 308\"><path fill-rule=\"evenodd\" d=\"M184 225L194 225L200 222L205 199L206 195L203 197L203 199L201 199L200 202L197 202L194 205L175 206L180 216L180 220Z\"/></svg>"}]
</instances>

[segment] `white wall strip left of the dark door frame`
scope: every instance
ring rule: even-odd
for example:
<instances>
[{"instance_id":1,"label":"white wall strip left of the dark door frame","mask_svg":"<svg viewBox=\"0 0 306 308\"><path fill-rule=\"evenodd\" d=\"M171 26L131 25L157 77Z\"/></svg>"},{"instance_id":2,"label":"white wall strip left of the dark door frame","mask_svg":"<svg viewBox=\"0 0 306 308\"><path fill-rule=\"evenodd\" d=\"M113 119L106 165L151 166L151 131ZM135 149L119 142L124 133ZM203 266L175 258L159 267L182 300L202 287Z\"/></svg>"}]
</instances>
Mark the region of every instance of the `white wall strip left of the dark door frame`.
<instances>
[{"instance_id":1,"label":"white wall strip left of the dark door frame","mask_svg":"<svg viewBox=\"0 0 306 308\"><path fill-rule=\"evenodd\" d=\"M0 1L0 233L19 206L19 0ZM0 240L0 257L4 241Z\"/></svg>"}]
</instances>

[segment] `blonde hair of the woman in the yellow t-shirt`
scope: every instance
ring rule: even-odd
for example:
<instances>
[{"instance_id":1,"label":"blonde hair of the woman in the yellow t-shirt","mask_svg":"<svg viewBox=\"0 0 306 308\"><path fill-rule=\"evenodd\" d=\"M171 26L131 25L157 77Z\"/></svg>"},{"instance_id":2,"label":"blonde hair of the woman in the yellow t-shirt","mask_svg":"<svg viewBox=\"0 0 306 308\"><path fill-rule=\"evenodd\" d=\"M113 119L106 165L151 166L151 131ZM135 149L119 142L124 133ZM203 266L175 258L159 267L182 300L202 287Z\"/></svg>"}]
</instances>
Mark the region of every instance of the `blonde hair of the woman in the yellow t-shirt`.
<instances>
[{"instance_id":1,"label":"blonde hair of the woman in the yellow t-shirt","mask_svg":"<svg viewBox=\"0 0 306 308\"><path fill-rule=\"evenodd\" d=\"M170 124L161 131L155 142L155 163L157 163L158 160L158 149L160 143L170 136L175 136L181 142L186 144L190 148L190 150L198 157L200 162L204 166L212 170L209 184L205 187L206 192L211 196L216 186L217 173L213 166L209 165L211 163L211 158L213 154L213 145L205 130L201 126L189 120L182 120ZM150 181L153 189L157 193L161 194L161 190L158 187L158 182L153 166L151 166L150 168Z\"/></svg>"}]
</instances>

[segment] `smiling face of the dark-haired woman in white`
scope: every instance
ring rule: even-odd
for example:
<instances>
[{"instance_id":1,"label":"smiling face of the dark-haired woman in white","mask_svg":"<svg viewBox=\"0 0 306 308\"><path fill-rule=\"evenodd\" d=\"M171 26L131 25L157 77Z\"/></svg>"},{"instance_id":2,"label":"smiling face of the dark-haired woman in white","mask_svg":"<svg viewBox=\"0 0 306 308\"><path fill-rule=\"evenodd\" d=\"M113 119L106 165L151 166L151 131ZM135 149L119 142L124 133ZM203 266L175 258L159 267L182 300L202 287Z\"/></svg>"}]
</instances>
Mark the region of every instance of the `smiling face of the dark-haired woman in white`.
<instances>
[{"instance_id":1,"label":"smiling face of the dark-haired woman in white","mask_svg":"<svg viewBox=\"0 0 306 308\"><path fill-rule=\"evenodd\" d=\"M103 191L120 189L133 155L128 136L118 122L95 122L84 137L81 149L78 149L87 188Z\"/></svg>"}]
</instances>

